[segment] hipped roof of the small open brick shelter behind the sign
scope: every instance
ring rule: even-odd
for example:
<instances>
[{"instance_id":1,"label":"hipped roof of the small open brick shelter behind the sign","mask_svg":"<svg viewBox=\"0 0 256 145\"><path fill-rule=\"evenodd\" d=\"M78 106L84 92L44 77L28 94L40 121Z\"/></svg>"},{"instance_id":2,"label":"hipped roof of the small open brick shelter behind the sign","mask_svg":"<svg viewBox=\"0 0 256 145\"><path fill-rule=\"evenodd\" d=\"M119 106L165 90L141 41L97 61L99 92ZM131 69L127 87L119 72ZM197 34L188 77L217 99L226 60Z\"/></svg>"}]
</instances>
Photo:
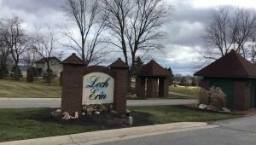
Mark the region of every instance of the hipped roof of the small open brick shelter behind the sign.
<instances>
[{"instance_id":1,"label":"hipped roof of the small open brick shelter behind the sign","mask_svg":"<svg viewBox=\"0 0 256 145\"><path fill-rule=\"evenodd\" d=\"M151 60L143 67L139 68L137 73L135 73L135 75L152 76L152 77L173 76L171 72L167 71L164 67L161 67L160 64L158 64L154 60Z\"/></svg>"}]
</instances>

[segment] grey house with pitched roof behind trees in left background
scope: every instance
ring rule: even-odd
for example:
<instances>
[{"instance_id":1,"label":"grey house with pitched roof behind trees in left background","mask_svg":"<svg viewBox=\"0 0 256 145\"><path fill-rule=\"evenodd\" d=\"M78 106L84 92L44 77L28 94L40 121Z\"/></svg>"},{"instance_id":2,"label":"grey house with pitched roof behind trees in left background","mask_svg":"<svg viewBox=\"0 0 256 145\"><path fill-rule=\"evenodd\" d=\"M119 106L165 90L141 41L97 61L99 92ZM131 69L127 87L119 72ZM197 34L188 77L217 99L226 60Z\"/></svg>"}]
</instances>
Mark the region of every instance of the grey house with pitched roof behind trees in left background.
<instances>
[{"instance_id":1,"label":"grey house with pitched roof behind trees in left background","mask_svg":"<svg viewBox=\"0 0 256 145\"><path fill-rule=\"evenodd\" d=\"M50 57L49 59L50 69L53 71L55 76L61 77L62 64L61 61L56 57ZM44 58L36 61L37 77L43 77L47 70L47 63Z\"/></svg>"}]
</instances>

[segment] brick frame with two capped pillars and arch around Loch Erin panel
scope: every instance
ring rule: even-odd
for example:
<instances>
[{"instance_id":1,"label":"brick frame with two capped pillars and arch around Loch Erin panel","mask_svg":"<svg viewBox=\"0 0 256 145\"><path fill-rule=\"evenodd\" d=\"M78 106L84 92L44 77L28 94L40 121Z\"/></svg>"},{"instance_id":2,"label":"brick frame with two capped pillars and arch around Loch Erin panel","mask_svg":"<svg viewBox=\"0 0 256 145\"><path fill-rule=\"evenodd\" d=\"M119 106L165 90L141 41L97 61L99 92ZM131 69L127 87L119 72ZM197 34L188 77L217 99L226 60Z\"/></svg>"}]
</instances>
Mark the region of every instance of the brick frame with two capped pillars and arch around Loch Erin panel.
<instances>
[{"instance_id":1,"label":"brick frame with two capped pillars and arch around Loch Erin panel","mask_svg":"<svg viewBox=\"0 0 256 145\"><path fill-rule=\"evenodd\" d=\"M129 67L124 61L118 59L108 67L84 66L84 62L75 54L70 55L61 62L63 71L61 75L62 94L61 110L74 114L82 112L83 77L89 73L105 73L114 78L113 109L118 113L126 113L126 93Z\"/></svg>"}]
</instances>

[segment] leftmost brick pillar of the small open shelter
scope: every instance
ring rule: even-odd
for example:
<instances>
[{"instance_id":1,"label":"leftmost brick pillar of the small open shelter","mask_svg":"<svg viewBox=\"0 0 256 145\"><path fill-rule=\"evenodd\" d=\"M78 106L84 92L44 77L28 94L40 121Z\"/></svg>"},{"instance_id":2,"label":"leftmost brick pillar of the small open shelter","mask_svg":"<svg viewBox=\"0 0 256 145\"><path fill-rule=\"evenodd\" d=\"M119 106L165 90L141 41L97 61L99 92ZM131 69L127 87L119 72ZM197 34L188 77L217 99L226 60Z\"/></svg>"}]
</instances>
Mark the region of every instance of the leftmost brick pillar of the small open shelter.
<instances>
[{"instance_id":1,"label":"leftmost brick pillar of the small open shelter","mask_svg":"<svg viewBox=\"0 0 256 145\"><path fill-rule=\"evenodd\" d=\"M146 78L136 78L135 91L137 96L145 97L145 84L146 84Z\"/></svg>"}]
</instances>

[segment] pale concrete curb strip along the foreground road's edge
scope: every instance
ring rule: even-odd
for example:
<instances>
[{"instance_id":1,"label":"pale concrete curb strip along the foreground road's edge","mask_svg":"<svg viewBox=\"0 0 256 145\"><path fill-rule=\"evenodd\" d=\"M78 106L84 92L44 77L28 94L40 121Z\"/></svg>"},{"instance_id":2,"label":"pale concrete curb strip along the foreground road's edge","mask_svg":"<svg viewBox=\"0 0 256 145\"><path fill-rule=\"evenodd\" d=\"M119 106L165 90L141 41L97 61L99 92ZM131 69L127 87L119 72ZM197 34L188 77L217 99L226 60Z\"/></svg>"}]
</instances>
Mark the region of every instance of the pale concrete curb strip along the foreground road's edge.
<instances>
[{"instance_id":1,"label":"pale concrete curb strip along the foreground road's edge","mask_svg":"<svg viewBox=\"0 0 256 145\"><path fill-rule=\"evenodd\" d=\"M68 145L68 144L98 144L137 138L142 136L154 136L177 131L193 131L199 129L218 127L201 122L180 122L164 125L148 125L140 127L123 128L108 131L94 131L67 136L51 136L38 139L0 142L0 145Z\"/></svg>"}]
</instances>

